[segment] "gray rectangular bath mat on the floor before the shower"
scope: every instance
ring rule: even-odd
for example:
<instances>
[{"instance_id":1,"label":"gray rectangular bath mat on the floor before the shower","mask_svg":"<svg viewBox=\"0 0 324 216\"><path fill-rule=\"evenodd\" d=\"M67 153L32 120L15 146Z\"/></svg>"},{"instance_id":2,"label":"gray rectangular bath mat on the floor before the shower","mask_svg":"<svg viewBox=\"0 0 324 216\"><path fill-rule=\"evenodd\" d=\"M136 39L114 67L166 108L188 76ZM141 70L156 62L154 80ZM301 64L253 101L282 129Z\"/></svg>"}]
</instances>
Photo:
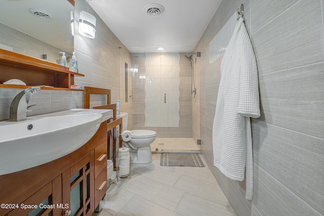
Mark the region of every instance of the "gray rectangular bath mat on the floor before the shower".
<instances>
[{"instance_id":1,"label":"gray rectangular bath mat on the floor before the shower","mask_svg":"<svg viewBox=\"0 0 324 216\"><path fill-rule=\"evenodd\" d=\"M162 153L161 166L205 166L198 154Z\"/></svg>"}]
</instances>

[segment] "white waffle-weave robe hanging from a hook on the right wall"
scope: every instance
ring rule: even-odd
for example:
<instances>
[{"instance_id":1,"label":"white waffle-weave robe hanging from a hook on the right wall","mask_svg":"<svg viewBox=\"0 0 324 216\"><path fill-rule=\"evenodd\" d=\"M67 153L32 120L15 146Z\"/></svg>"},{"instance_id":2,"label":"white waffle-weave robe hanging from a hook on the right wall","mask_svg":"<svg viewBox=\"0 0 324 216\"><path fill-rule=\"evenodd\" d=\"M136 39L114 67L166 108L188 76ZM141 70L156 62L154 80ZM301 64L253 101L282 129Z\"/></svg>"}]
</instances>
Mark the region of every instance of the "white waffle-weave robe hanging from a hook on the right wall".
<instances>
[{"instance_id":1,"label":"white waffle-weave robe hanging from a hook on the right wall","mask_svg":"<svg viewBox=\"0 0 324 216\"><path fill-rule=\"evenodd\" d=\"M228 178L244 180L253 196L251 120L260 116L258 70L249 34L241 17L221 63L213 125L214 165Z\"/></svg>"}]
</instances>

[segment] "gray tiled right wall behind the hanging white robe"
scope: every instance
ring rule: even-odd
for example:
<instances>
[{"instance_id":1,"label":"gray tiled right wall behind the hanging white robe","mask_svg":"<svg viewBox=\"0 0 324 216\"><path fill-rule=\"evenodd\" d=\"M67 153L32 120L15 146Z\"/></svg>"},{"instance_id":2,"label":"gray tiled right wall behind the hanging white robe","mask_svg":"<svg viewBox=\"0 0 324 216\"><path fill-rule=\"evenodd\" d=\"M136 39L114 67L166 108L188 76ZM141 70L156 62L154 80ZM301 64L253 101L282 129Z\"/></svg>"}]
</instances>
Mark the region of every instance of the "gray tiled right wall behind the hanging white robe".
<instances>
[{"instance_id":1,"label":"gray tiled right wall behind the hanging white robe","mask_svg":"<svg viewBox=\"0 0 324 216\"><path fill-rule=\"evenodd\" d=\"M261 117L252 120L254 193L213 165L212 127L222 57L209 44L244 4L259 71ZM324 214L323 0L222 1L195 51L201 152L236 215ZM200 101L200 102L199 102ZM193 106L195 107L195 105Z\"/></svg>"}]
</instances>

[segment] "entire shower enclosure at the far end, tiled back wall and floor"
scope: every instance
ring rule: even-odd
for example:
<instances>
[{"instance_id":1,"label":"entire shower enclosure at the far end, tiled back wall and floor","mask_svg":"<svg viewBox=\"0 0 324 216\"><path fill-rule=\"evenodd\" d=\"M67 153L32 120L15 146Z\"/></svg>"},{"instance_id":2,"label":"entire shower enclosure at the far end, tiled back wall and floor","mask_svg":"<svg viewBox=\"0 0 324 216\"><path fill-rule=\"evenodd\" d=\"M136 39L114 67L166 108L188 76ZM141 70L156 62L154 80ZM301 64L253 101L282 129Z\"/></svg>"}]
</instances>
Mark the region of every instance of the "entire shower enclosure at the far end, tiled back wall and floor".
<instances>
[{"instance_id":1,"label":"entire shower enclosure at the far end, tiled back wall and floor","mask_svg":"<svg viewBox=\"0 0 324 216\"><path fill-rule=\"evenodd\" d=\"M138 68L132 78L132 127L156 131L153 151L199 150L192 139L192 67L185 55L191 53L132 54Z\"/></svg>"}]
</instances>

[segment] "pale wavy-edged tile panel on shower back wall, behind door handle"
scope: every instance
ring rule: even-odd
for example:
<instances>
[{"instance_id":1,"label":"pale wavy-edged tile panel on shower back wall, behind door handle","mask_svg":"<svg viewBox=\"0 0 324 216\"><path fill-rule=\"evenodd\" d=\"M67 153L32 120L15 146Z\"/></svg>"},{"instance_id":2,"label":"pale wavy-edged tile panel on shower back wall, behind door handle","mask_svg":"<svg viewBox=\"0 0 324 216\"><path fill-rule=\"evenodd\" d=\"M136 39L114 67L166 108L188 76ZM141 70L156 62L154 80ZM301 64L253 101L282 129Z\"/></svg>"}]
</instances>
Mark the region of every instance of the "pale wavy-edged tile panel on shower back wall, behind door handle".
<instances>
[{"instance_id":1,"label":"pale wavy-edged tile panel on shower back wall, behind door handle","mask_svg":"<svg viewBox=\"0 0 324 216\"><path fill-rule=\"evenodd\" d=\"M147 53L145 126L179 126L179 53Z\"/></svg>"}]
</instances>

